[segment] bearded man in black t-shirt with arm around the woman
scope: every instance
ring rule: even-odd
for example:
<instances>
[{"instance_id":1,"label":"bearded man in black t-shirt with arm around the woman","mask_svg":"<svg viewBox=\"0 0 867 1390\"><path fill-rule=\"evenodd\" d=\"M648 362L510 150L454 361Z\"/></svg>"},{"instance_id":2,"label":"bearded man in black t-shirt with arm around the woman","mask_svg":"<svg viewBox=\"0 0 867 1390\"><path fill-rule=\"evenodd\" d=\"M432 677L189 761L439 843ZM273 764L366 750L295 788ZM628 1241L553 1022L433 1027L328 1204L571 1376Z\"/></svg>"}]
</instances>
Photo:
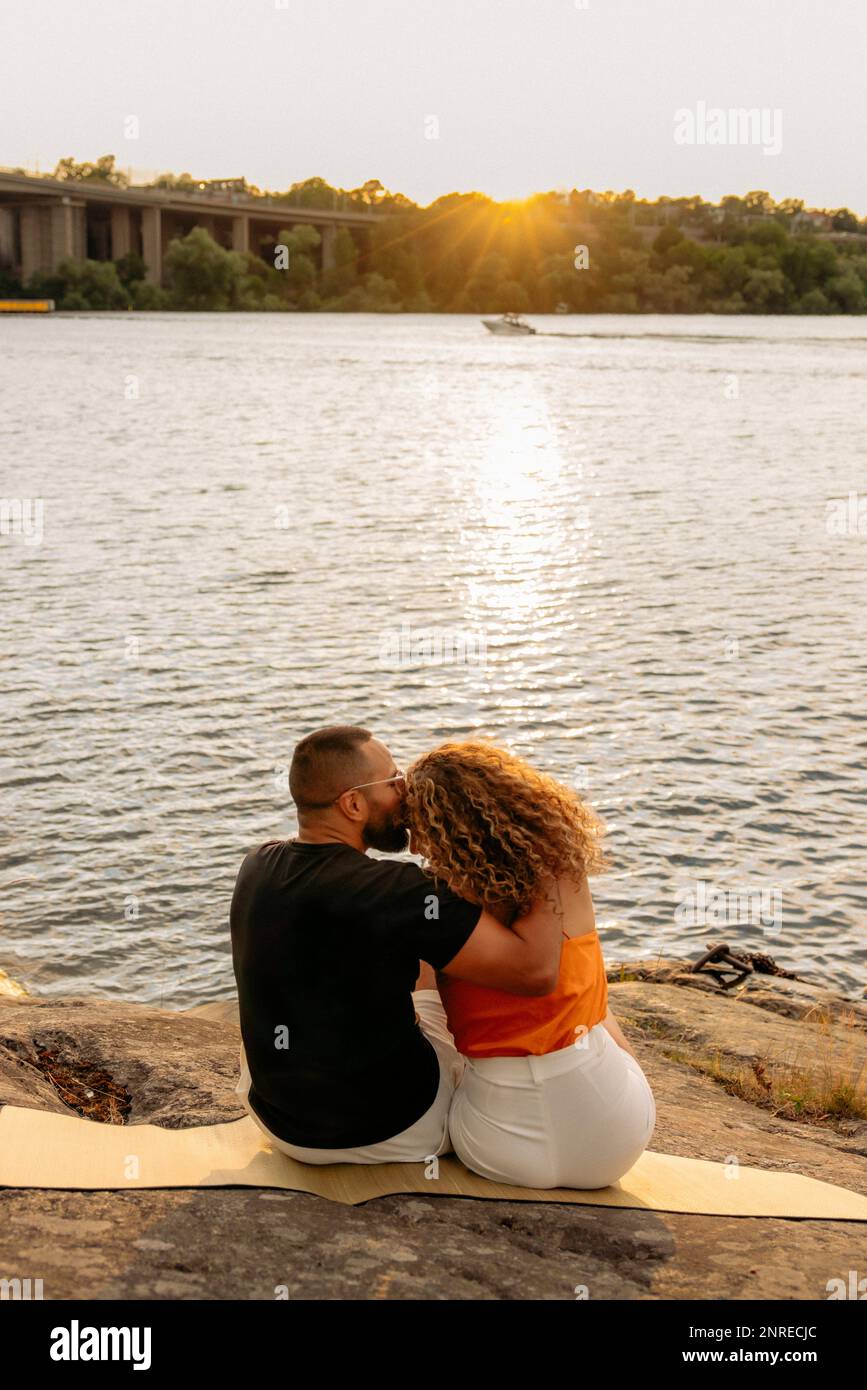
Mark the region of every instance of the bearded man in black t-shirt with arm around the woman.
<instances>
[{"instance_id":1,"label":"bearded man in black t-shirt with arm around the woman","mask_svg":"<svg viewBox=\"0 0 867 1390\"><path fill-rule=\"evenodd\" d=\"M271 1143L307 1163L450 1152L464 1059L434 969L550 994L560 923L539 906L504 927L418 865L367 856L408 844L403 774L367 728L303 738L289 790L297 838L250 851L232 897L236 1091Z\"/></svg>"}]
</instances>

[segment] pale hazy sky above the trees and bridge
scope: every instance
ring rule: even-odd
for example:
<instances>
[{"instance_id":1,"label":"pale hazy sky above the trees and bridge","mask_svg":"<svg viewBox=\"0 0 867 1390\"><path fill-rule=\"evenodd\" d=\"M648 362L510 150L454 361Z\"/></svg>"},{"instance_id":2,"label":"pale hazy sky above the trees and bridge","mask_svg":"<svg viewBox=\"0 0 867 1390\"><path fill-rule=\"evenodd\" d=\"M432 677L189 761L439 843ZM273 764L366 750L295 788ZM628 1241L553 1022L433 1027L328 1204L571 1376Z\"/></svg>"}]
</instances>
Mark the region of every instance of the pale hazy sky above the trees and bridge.
<instances>
[{"instance_id":1,"label":"pale hazy sky above the trees and bridge","mask_svg":"<svg viewBox=\"0 0 867 1390\"><path fill-rule=\"evenodd\" d=\"M864 0L1 0L0 164L866 215L866 74Z\"/></svg>"}]
</instances>

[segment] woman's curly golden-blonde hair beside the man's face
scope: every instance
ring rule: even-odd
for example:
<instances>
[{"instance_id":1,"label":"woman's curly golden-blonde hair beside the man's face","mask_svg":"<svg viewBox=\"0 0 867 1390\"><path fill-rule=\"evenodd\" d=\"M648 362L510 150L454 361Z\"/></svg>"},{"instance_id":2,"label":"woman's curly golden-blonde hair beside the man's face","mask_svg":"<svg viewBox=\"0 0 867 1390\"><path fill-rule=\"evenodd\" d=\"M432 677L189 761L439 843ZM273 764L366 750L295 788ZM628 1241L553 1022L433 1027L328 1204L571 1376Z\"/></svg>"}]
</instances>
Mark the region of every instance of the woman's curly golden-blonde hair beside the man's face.
<instances>
[{"instance_id":1,"label":"woman's curly golden-blonde hair beside the man's face","mask_svg":"<svg viewBox=\"0 0 867 1390\"><path fill-rule=\"evenodd\" d=\"M406 774L413 849L468 902L527 912L549 877L607 867L604 827L575 792L485 741L440 744Z\"/></svg>"}]
</instances>

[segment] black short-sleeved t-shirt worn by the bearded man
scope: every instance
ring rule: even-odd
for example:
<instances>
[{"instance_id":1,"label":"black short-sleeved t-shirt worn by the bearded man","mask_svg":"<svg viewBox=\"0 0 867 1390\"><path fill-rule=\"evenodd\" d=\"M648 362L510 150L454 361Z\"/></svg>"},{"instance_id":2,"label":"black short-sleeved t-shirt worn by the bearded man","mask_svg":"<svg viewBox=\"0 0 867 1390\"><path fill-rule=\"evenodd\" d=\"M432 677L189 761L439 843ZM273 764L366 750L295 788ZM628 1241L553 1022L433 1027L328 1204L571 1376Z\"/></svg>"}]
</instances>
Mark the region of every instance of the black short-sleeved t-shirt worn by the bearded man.
<instances>
[{"instance_id":1,"label":"black short-sleeved t-shirt worn by the bearded man","mask_svg":"<svg viewBox=\"0 0 867 1390\"><path fill-rule=\"evenodd\" d=\"M232 897L249 1102L278 1138L356 1148L431 1108L439 1062L415 1022L418 962L442 969L481 908L408 862L272 841Z\"/></svg>"}]
</instances>

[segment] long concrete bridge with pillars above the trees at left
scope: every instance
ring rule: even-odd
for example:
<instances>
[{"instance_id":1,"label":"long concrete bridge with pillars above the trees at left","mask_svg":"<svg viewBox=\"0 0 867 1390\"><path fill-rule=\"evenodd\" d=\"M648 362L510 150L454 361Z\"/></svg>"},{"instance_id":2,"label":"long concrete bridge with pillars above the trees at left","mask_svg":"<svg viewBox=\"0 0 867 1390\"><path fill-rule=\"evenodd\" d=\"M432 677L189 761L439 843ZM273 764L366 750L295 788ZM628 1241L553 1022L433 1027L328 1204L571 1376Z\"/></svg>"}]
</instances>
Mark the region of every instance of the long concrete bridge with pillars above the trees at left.
<instances>
[{"instance_id":1,"label":"long concrete bridge with pillars above the trees at left","mask_svg":"<svg viewBox=\"0 0 867 1390\"><path fill-rule=\"evenodd\" d=\"M163 259L175 236L193 227L229 250L270 259L279 232L306 224L322 236L321 267L333 264L338 228L347 227L361 245L379 221L377 213L293 207L245 193L181 193L174 189L111 188L33 178L0 170L0 265L13 267L24 284L61 260L118 260L138 252L151 285L163 284Z\"/></svg>"}]
</instances>

